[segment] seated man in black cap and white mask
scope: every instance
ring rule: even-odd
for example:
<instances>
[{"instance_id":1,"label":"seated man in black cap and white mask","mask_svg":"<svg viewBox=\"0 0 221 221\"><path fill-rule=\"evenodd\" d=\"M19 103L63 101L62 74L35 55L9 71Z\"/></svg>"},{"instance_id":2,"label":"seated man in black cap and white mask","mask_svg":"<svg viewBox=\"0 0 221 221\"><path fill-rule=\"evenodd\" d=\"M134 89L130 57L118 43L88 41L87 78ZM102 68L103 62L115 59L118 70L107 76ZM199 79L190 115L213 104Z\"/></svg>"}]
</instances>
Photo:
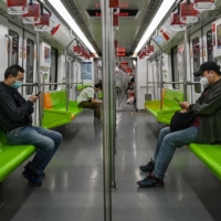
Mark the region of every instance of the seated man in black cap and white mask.
<instances>
[{"instance_id":1,"label":"seated man in black cap and white mask","mask_svg":"<svg viewBox=\"0 0 221 221\"><path fill-rule=\"evenodd\" d=\"M187 129L171 133L169 127L159 133L154 160L140 170L149 172L137 181L139 187L162 187L164 177L177 147L191 143L213 144L221 143L221 71L214 62L206 62L194 76L201 76L200 84L204 87L201 96L194 104L180 103L182 113L192 110L196 115L191 126Z\"/></svg>"}]
</instances>

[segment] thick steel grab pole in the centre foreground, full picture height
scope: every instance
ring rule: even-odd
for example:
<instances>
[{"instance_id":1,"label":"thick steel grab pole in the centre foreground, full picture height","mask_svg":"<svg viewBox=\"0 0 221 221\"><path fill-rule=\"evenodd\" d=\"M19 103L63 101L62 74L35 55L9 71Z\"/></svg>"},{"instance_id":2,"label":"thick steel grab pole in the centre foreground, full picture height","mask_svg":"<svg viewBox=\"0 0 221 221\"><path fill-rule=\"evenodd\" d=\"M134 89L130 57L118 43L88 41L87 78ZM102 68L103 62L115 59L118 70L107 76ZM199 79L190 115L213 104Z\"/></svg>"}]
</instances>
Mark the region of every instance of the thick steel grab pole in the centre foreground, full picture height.
<instances>
[{"instance_id":1,"label":"thick steel grab pole in the centre foreground, full picture height","mask_svg":"<svg viewBox=\"0 0 221 221\"><path fill-rule=\"evenodd\" d=\"M109 1L101 0L102 6L102 34L103 34L103 177L104 177L104 221L112 221L112 106L110 106L110 38Z\"/></svg>"}]
</instances>

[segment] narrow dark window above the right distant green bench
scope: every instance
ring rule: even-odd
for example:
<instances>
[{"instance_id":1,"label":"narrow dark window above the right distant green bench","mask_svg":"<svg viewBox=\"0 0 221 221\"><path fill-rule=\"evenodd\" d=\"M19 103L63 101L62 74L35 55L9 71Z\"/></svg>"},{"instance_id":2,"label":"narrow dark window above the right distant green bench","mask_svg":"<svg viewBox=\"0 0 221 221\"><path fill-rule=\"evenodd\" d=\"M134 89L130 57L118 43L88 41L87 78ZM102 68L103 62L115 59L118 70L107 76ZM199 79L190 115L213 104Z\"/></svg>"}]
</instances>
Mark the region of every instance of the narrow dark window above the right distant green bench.
<instances>
[{"instance_id":1,"label":"narrow dark window above the right distant green bench","mask_svg":"<svg viewBox=\"0 0 221 221\"><path fill-rule=\"evenodd\" d=\"M171 50L171 66L172 66L172 82L179 82L179 70L178 70L178 46ZM179 84L172 84L175 90L179 90Z\"/></svg>"}]
</instances>

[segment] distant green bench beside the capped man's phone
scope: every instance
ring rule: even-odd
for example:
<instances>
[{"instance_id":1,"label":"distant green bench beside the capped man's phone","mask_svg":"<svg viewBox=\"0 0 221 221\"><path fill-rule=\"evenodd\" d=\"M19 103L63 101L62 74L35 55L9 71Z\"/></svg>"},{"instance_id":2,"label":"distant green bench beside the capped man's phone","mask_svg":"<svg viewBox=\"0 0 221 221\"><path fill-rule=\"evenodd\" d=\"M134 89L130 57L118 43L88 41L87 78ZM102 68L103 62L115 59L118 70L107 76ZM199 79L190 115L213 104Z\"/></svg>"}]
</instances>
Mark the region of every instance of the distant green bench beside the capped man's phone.
<instances>
[{"instance_id":1,"label":"distant green bench beside the capped man's phone","mask_svg":"<svg viewBox=\"0 0 221 221\"><path fill-rule=\"evenodd\" d=\"M159 123L169 125L175 112L181 109L175 98L182 102L183 93L180 91L165 90L162 109L160 109L160 101L147 101L145 102L145 108L155 116Z\"/></svg>"}]
</instances>

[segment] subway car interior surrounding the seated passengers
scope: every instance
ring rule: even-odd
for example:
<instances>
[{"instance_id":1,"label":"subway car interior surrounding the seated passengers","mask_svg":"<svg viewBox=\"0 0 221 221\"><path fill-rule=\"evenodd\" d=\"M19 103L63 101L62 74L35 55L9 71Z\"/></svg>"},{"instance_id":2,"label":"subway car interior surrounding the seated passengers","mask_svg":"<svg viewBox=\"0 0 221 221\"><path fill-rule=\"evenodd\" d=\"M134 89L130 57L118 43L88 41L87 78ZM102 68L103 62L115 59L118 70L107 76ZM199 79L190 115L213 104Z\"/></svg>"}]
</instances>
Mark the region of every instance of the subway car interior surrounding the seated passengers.
<instances>
[{"instance_id":1,"label":"subway car interior surrounding the seated passengers","mask_svg":"<svg viewBox=\"0 0 221 221\"><path fill-rule=\"evenodd\" d=\"M1 82L18 64L24 99L41 92L32 125L62 135L30 187L35 147L0 130L0 221L221 220L221 144L186 144L164 187L137 185L179 103L201 96L193 73L221 65L221 0L0 0L0 49ZM97 83L101 124L77 106Z\"/></svg>"}]
</instances>

